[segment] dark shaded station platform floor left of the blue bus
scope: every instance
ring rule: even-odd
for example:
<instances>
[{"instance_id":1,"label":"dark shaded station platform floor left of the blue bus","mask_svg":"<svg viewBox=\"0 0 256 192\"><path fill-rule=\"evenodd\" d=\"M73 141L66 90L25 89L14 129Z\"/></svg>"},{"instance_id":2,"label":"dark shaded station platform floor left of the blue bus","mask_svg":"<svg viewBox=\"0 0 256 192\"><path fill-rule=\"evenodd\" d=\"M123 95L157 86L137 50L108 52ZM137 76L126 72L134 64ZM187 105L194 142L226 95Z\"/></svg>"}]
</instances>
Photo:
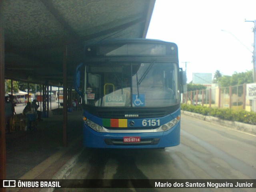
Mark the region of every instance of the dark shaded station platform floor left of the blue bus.
<instances>
[{"instance_id":1,"label":"dark shaded station platform floor left of the blue bus","mask_svg":"<svg viewBox=\"0 0 256 192\"><path fill-rule=\"evenodd\" d=\"M36 129L6 134L6 179L52 179L84 149L82 110L68 112L68 147L63 146L63 115L50 111L42 119Z\"/></svg>"}]
</instances>

